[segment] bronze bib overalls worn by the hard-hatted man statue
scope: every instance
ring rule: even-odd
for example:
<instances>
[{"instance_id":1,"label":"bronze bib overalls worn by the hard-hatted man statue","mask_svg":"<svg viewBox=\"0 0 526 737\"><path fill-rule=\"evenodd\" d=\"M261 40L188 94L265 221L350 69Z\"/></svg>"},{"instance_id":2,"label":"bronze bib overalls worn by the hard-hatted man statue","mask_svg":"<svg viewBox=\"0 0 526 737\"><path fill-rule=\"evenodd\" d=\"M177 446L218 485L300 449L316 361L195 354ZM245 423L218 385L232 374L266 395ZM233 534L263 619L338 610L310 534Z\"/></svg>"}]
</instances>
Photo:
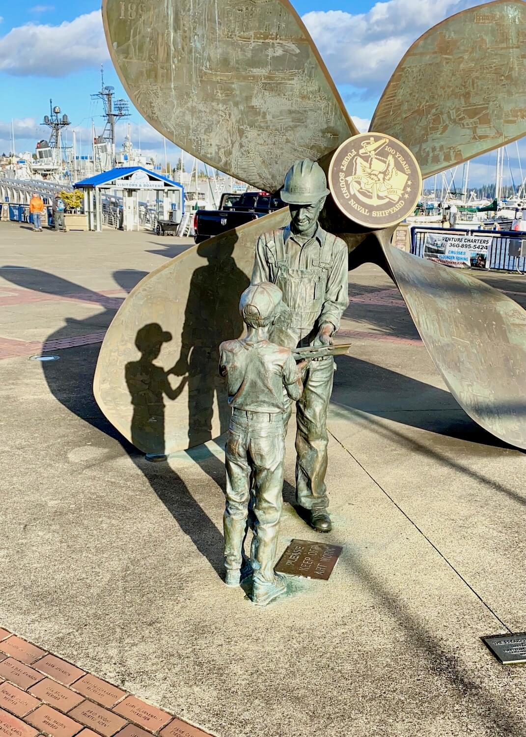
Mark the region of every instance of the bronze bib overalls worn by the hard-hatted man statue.
<instances>
[{"instance_id":1,"label":"bronze bib overalls worn by the hard-hatted man statue","mask_svg":"<svg viewBox=\"0 0 526 737\"><path fill-rule=\"evenodd\" d=\"M289 310L270 329L269 339L288 348L311 345L320 324L318 318L326 301L326 285L332 263L334 235L327 233L306 268L290 268L283 231L267 234L266 254L272 281L281 289ZM325 475L327 470L327 408L332 393L334 358L310 361L303 374L304 392L296 402L296 498L305 509L329 506ZM292 413L289 403L287 427Z\"/></svg>"}]
</instances>

